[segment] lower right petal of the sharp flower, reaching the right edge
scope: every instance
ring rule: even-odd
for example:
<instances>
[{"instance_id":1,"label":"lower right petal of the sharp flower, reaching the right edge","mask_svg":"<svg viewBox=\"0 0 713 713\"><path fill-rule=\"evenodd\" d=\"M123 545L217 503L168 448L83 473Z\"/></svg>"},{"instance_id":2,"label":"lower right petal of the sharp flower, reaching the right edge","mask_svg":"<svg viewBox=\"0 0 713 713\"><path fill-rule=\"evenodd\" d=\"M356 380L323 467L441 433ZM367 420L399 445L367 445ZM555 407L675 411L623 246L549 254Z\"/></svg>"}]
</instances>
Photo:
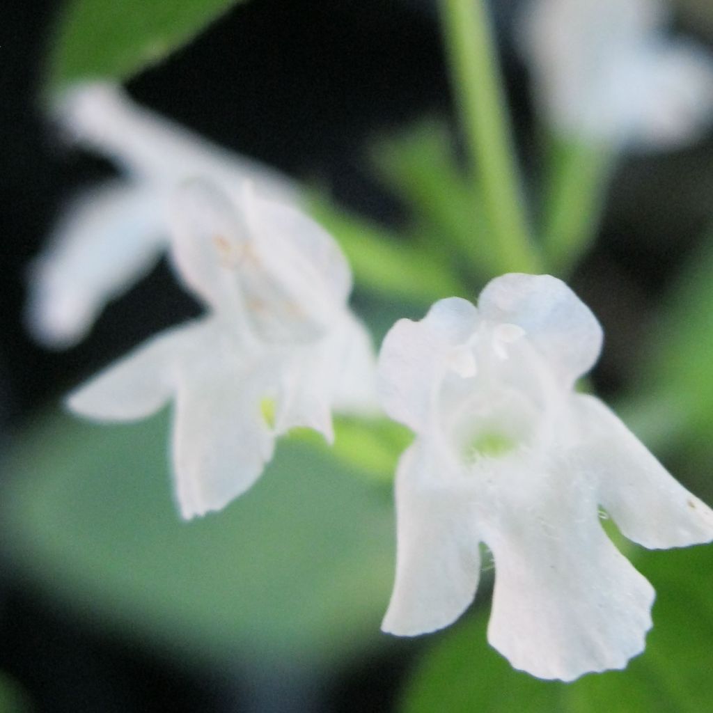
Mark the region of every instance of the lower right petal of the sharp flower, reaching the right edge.
<instances>
[{"instance_id":1,"label":"lower right petal of the sharp flower, reaching the right edge","mask_svg":"<svg viewBox=\"0 0 713 713\"><path fill-rule=\"evenodd\" d=\"M622 534L647 548L713 540L713 511L689 493L594 396L575 394L584 441L581 467Z\"/></svg>"}]
</instances>

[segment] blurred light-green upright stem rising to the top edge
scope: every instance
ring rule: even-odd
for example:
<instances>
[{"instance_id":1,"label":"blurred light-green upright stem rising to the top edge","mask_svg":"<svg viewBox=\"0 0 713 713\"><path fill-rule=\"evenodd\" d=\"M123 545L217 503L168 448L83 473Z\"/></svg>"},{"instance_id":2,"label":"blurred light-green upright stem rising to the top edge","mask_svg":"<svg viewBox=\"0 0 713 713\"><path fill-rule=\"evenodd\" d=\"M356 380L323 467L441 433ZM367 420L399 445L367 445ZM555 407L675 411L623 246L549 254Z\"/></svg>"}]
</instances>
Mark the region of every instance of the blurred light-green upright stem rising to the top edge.
<instances>
[{"instance_id":1,"label":"blurred light-green upright stem rising to the top edge","mask_svg":"<svg viewBox=\"0 0 713 713\"><path fill-rule=\"evenodd\" d=\"M503 272L538 272L486 0L441 0L441 14L451 81L498 265Z\"/></svg>"}]
</instances>

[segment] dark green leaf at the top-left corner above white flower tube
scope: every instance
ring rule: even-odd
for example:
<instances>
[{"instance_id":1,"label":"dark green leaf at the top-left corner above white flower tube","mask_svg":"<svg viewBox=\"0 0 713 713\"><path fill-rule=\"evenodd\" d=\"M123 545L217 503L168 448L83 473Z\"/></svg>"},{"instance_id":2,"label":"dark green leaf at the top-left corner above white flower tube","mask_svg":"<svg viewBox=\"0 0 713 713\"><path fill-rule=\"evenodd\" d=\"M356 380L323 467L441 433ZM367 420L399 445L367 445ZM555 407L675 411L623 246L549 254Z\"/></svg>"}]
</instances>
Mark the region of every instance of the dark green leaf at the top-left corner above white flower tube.
<instances>
[{"instance_id":1,"label":"dark green leaf at the top-left corner above white flower tube","mask_svg":"<svg viewBox=\"0 0 713 713\"><path fill-rule=\"evenodd\" d=\"M123 81L163 60L237 0L68 0L54 32L48 90L88 79Z\"/></svg>"}]
</instances>

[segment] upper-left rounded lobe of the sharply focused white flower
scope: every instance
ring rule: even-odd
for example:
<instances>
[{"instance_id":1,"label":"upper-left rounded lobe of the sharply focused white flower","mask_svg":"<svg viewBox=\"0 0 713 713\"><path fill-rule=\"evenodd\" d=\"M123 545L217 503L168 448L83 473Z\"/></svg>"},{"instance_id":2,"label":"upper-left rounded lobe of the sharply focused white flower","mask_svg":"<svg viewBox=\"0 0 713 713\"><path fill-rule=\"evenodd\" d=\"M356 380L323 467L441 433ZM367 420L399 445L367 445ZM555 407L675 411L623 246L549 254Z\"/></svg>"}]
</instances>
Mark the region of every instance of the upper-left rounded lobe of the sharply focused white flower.
<instances>
[{"instance_id":1,"label":"upper-left rounded lobe of the sharply focused white flower","mask_svg":"<svg viewBox=\"0 0 713 713\"><path fill-rule=\"evenodd\" d=\"M391 327L378 368L381 406L392 419L416 432L428 429L443 377L449 370L468 376L475 368L460 348L477 325L476 308L449 297L436 302L420 322L399 319Z\"/></svg>"}]
</instances>

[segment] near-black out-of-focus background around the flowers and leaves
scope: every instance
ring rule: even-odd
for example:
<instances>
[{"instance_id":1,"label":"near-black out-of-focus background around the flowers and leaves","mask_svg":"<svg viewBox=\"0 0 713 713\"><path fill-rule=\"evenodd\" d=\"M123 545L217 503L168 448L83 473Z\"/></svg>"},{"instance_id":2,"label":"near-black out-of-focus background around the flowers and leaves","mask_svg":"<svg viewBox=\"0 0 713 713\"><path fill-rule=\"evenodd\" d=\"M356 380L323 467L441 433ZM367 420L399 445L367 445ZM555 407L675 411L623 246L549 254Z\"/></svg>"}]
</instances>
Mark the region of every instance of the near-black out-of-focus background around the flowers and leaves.
<instances>
[{"instance_id":1,"label":"near-black out-of-focus background around the flowers and leaves","mask_svg":"<svg viewBox=\"0 0 713 713\"><path fill-rule=\"evenodd\" d=\"M503 37L512 5L498 3ZM8 0L2 11L3 450L43 404L197 309L162 264L112 304L75 349L46 352L24 331L26 263L63 200L111 173L102 160L62 148L36 109L58 6ZM520 154L534 175L526 73L511 46L503 47ZM208 138L296 178L319 180L350 207L393 224L404 217L404 207L371 173L364 158L368 140L426 114L451 111L436 12L425 0L252 0L129 88L142 103ZM630 157L618 170L600 240L573 279L607 334L595 373L605 393L615 395L635 371L651 309L699 240L712 189L710 139L675 154ZM0 586L0 670L41 712L389 710L409 663L393 654L356 661L321 692L302 692L302 699L291 701L274 692L266 701L255 697L249 682L224 672L196 678L182 662L155 660L137 642L91 630L11 571L0 570Z\"/></svg>"}]
</instances>

